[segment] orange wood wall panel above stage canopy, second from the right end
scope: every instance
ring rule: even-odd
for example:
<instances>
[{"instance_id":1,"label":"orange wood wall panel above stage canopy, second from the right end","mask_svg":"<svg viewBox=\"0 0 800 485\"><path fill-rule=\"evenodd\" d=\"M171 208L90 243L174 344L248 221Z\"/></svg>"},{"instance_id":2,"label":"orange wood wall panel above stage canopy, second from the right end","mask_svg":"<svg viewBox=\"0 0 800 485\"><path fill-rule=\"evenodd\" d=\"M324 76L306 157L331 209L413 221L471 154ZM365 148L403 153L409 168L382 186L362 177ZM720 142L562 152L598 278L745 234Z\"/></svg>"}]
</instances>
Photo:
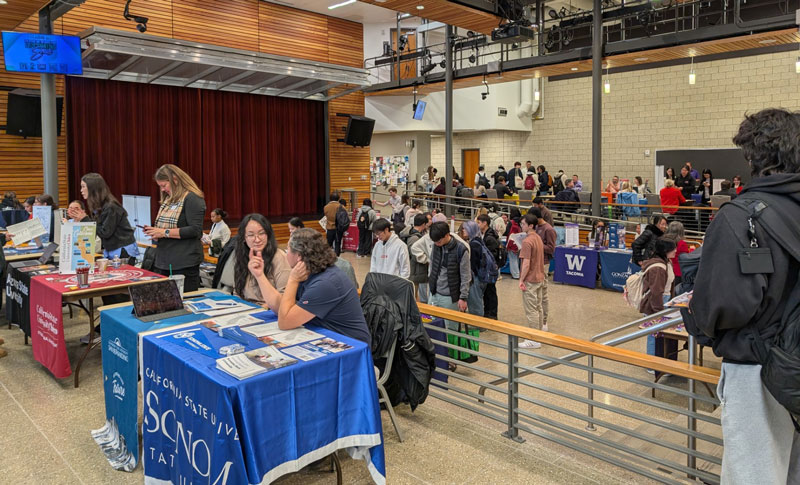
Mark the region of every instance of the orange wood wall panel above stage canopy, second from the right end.
<instances>
[{"instance_id":1,"label":"orange wood wall panel above stage canopy, second from the right end","mask_svg":"<svg viewBox=\"0 0 800 485\"><path fill-rule=\"evenodd\" d=\"M259 50L328 62L328 20L318 13L259 2Z\"/></svg>"}]
</instances>

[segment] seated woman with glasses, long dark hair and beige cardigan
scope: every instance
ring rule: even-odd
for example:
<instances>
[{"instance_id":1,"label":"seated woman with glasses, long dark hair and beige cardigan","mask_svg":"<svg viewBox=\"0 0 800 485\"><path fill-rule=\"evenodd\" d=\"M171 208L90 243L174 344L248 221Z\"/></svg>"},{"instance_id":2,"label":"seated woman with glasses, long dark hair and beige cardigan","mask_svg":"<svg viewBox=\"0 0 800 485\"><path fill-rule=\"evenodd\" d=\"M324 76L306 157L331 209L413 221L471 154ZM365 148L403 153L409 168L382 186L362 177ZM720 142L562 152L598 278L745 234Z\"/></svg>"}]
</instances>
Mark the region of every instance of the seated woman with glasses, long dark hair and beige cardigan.
<instances>
[{"instance_id":1,"label":"seated woman with glasses, long dark hair and beige cardigan","mask_svg":"<svg viewBox=\"0 0 800 485\"><path fill-rule=\"evenodd\" d=\"M267 306L269 300L266 295L270 291L282 293L286 288L291 268L286 261L286 253L278 249L275 232L266 217L261 214L248 214L242 219L234 254L235 295ZM258 260L260 264L255 267L253 260ZM265 265L264 261L269 261L269 265ZM265 291L267 287L269 290ZM269 307L277 311L272 305Z\"/></svg>"}]
</instances>

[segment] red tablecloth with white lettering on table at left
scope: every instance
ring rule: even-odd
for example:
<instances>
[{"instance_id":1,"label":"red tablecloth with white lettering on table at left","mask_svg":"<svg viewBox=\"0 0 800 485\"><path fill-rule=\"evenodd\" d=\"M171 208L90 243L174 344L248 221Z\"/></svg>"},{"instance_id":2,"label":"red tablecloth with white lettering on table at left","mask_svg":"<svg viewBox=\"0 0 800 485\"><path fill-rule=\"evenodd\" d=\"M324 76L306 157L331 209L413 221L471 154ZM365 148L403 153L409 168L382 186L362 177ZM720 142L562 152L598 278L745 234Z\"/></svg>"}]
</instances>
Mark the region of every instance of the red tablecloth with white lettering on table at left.
<instances>
[{"instance_id":1,"label":"red tablecloth with white lettering on table at left","mask_svg":"<svg viewBox=\"0 0 800 485\"><path fill-rule=\"evenodd\" d=\"M78 290L75 275L41 275L31 278L30 316L33 357L58 378L69 377L72 368L64 342L62 297ZM89 288L100 289L136 281L164 278L134 266L123 265L89 275Z\"/></svg>"}]
</instances>

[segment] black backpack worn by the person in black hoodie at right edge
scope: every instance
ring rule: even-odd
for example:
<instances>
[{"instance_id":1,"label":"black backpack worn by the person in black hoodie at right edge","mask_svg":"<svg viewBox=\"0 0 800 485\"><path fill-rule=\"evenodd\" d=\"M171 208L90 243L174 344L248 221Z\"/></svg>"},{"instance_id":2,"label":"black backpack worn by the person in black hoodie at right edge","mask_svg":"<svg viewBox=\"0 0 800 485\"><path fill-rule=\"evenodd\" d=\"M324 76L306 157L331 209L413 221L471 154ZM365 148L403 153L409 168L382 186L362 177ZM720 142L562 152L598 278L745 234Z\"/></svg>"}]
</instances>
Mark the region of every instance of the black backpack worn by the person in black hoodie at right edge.
<instances>
[{"instance_id":1,"label":"black backpack worn by the person in black hoodie at right edge","mask_svg":"<svg viewBox=\"0 0 800 485\"><path fill-rule=\"evenodd\" d=\"M800 241L797 226L787 224L778 209L770 206L776 198L762 192L742 194L726 204L736 205L750 214L750 221L758 224L796 261L800 261L800 247L792 242ZM749 233L750 231L748 231ZM755 237L750 237L751 247L757 248ZM784 246L784 243L787 243ZM753 348L761 364L761 382L776 401L789 411L795 429L800 432L800 283L795 285L789 302L781 316L781 329L772 340L764 340L757 331L753 335Z\"/></svg>"}]
</instances>

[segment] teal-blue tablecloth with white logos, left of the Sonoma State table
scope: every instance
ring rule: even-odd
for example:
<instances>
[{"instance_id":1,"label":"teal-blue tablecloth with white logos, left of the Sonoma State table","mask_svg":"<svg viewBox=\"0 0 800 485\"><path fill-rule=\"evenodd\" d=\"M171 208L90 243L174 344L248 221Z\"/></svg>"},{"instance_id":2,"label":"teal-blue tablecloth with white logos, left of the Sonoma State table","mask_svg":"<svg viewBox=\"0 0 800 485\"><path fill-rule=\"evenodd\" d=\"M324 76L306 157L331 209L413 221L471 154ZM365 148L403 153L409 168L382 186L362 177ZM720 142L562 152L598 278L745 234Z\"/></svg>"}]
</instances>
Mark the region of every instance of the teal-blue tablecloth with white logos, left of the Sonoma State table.
<instances>
[{"instance_id":1,"label":"teal-blue tablecloth with white logos, left of the Sonoma State table","mask_svg":"<svg viewBox=\"0 0 800 485\"><path fill-rule=\"evenodd\" d=\"M204 297L214 300L243 301L222 292L207 293ZM103 451L112 466L128 471L135 468L139 461L139 430L136 426L139 416L137 401L139 334L209 318L204 313L197 313L156 322L142 322L131 313L131 309L132 307L128 305L100 312L106 426L116 428L112 432L121 435L117 443L103 446Z\"/></svg>"}]
</instances>

